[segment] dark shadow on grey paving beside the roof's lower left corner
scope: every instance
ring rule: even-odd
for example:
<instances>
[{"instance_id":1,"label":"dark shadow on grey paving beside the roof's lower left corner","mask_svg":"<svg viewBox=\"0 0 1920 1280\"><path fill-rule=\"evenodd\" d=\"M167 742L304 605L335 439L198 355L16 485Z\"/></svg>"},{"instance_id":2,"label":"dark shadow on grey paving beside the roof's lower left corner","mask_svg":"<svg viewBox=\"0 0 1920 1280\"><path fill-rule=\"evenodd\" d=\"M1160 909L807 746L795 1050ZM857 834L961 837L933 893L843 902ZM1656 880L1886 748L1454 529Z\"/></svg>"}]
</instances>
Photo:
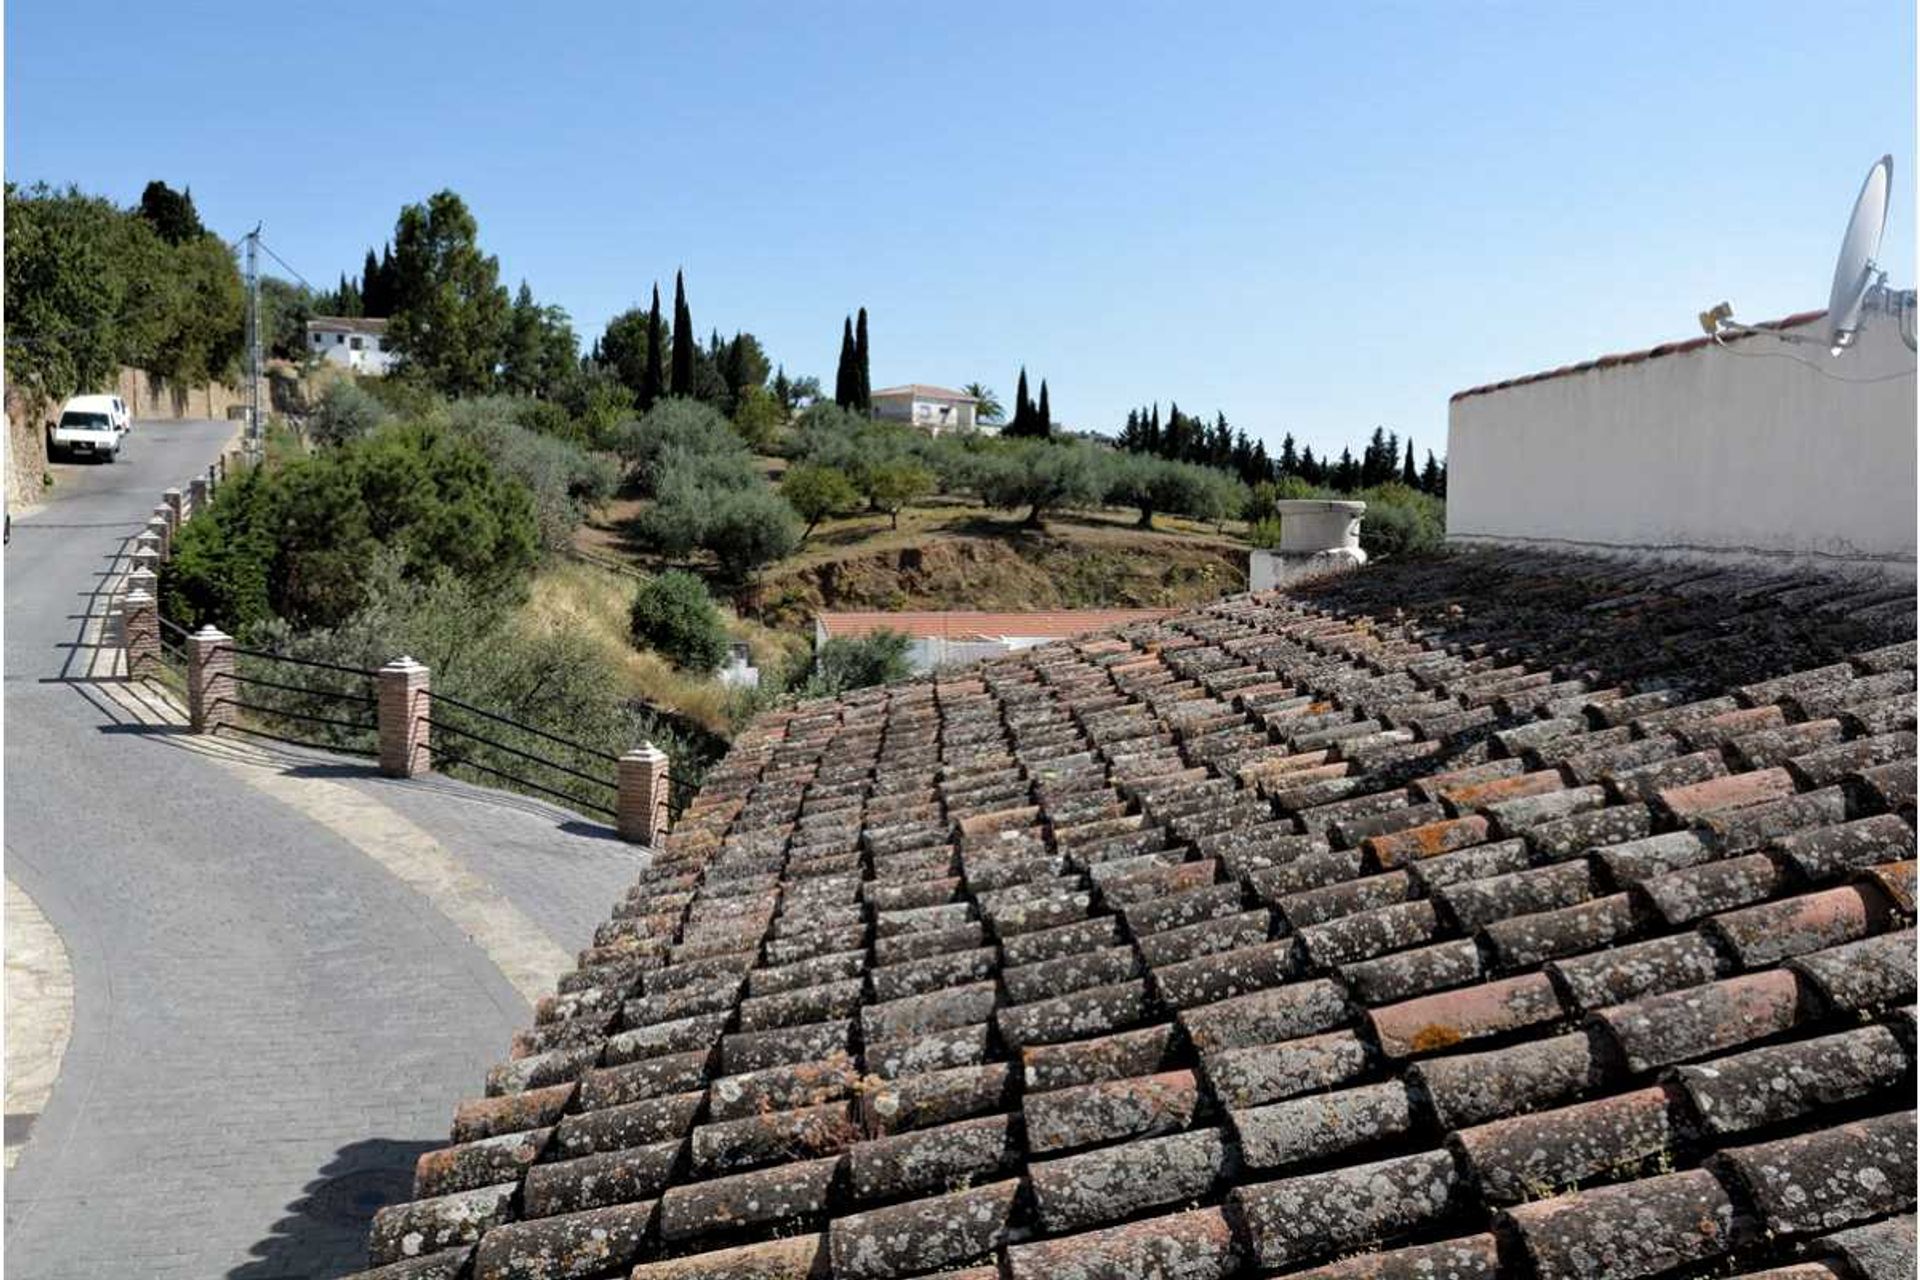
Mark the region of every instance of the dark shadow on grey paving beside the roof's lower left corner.
<instances>
[{"instance_id":1,"label":"dark shadow on grey paving beside the roof's lower left corner","mask_svg":"<svg viewBox=\"0 0 1920 1280\"><path fill-rule=\"evenodd\" d=\"M384 1205L413 1197L413 1163L444 1142L369 1138L340 1148L252 1245L227 1280L323 1280L367 1267L367 1228Z\"/></svg>"}]
</instances>

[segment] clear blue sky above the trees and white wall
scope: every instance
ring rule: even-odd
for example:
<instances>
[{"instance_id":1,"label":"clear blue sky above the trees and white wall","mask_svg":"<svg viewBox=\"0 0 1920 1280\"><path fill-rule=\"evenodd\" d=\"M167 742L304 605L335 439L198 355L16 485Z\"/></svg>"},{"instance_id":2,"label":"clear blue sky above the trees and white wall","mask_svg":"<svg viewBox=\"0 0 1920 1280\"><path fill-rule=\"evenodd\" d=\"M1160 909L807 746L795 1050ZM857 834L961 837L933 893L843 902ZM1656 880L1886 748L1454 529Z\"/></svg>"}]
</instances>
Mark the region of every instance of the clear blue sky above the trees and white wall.
<instances>
[{"instance_id":1,"label":"clear blue sky above the trees and white wall","mask_svg":"<svg viewBox=\"0 0 1920 1280\"><path fill-rule=\"evenodd\" d=\"M828 386L864 303L876 386L1425 449L1459 388L1824 305L1884 152L1910 286L1912 48L1905 0L15 0L6 175L190 184L317 284L451 186L588 340L685 267Z\"/></svg>"}]
</instances>

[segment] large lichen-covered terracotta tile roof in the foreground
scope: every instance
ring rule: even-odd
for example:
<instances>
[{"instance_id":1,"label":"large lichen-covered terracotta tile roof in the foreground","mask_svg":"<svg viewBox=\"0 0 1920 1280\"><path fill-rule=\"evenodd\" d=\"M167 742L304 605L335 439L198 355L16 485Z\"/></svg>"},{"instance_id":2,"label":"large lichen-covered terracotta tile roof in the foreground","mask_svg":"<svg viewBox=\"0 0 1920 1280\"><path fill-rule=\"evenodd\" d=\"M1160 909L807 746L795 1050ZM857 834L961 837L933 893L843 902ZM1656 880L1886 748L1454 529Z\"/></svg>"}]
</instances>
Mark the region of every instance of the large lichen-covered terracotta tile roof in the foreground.
<instances>
[{"instance_id":1,"label":"large lichen-covered terracotta tile roof in the foreground","mask_svg":"<svg viewBox=\"0 0 1920 1280\"><path fill-rule=\"evenodd\" d=\"M1908 1276L1912 589L1473 553L755 722L384 1276Z\"/></svg>"}]
</instances>

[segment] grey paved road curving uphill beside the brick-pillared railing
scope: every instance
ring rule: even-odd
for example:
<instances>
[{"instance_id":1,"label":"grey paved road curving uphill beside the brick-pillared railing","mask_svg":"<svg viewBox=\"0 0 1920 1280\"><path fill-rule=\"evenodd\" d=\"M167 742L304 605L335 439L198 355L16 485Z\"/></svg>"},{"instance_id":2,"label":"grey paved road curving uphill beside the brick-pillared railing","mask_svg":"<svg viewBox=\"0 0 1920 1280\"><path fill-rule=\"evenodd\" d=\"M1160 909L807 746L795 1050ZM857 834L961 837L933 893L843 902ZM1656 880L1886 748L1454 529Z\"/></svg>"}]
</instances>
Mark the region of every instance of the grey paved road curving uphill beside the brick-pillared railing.
<instances>
[{"instance_id":1,"label":"grey paved road curving uphill beside the brick-pillared railing","mask_svg":"<svg viewBox=\"0 0 1920 1280\"><path fill-rule=\"evenodd\" d=\"M559 810L445 779L307 760L336 798L290 802L298 768L255 785L83 679L123 541L228 438L138 424L117 464L60 468L4 557L6 875L65 942L75 990L52 1098L8 1117L27 1142L6 1267L27 1280L363 1265L372 1209L407 1196L530 1015L365 831L417 833L540 956L582 944L637 869Z\"/></svg>"}]
</instances>

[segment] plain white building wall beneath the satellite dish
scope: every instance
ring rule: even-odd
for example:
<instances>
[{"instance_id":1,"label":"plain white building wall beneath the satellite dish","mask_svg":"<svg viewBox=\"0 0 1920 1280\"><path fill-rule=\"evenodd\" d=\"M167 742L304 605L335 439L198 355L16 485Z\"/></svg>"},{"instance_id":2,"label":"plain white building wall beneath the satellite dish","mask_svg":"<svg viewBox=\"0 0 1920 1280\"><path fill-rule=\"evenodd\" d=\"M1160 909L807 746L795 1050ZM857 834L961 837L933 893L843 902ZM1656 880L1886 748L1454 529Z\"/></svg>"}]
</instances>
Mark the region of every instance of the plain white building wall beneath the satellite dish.
<instances>
[{"instance_id":1,"label":"plain white building wall beneath the satellite dish","mask_svg":"<svg viewBox=\"0 0 1920 1280\"><path fill-rule=\"evenodd\" d=\"M1455 397L1448 541L1914 574L1914 353L1745 338Z\"/></svg>"}]
</instances>

